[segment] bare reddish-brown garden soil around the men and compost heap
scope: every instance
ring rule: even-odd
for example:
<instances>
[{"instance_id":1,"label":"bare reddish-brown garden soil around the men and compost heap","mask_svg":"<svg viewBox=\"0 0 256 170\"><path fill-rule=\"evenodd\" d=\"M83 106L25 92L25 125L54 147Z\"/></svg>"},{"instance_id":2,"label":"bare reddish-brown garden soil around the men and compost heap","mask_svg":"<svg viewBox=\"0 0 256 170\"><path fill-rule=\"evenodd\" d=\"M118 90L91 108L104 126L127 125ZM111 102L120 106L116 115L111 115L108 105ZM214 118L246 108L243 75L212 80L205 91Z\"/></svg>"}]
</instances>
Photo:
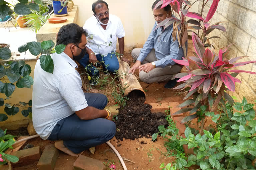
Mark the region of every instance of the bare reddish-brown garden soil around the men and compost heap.
<instances>
[{"instance_id":1,"label":"bare reddish-brown garden soil around the men and compost heap","mask_svg":"<svg viewBox=\"0 0 256 170\"><path fill-rule=\"evenodd\" d=\"M191 49L192 43L189 43L189 54L193 55ZM132 60L131 50L125 52L125 57ZM132 66L134 63L131 62ZM138 76L138 71L135 72L135 75ZM178 102L182 103L182 99L184 98L184 94L178 90L174 89L166 89L164 85L166 83L143 83L139 81L142 88L146 93L146 103L164 103L164 102ZM89 86L88 86L89 87ZM99 88L89 87L88 92L91 93L107 93L108 88ZM113 106L114 101L109 98L108 106ZM162 137L158 137L158 140L153 142L151 138L138 138L135 140L124 139L123 141L117 140L115 137L110 140L110 143L114 145L114 147L119 151L122 157L125 157L135 163L125 161L128 170L159 170L159 166L161 163L169 163L174 161L174 157L165 157L163 153L166 152L166 148L164 147L164 142L167 139L163 139ZM41 151L44 147L49 143L54 143L53 141L43 140L39 137L30 139L27 141L34 146L40 146ZM111 148L107 144L102 144L96 146L95 154L91 154L89 151L85 151L83 155L101 160L102 162L108 162L114 160L116 169L122 170L122 165L119 162L117 156L111 152ZM63 152L60 152L57 163L55 166L55 170L72 170L73 163L76 160L76 157L69 156ZM37 170L36 167L37 162L34 164L26 165L23 167L13 168L14 170ZM7 170L8 167L4 167L3 170Z\"/></svg>"}]
</instances>

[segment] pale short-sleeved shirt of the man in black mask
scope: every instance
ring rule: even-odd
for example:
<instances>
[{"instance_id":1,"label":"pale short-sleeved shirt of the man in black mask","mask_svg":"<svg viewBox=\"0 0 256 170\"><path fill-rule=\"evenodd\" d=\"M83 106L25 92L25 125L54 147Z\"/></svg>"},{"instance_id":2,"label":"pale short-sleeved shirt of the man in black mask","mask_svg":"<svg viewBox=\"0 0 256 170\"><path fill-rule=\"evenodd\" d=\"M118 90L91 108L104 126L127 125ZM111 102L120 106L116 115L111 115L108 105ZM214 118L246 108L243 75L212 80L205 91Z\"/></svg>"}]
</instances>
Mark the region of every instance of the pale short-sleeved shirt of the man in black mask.
<instances>
[{"instance_id":1,"label":"pale short-sleeved shirt of the man in black mask","mask_svg":"<svg viewBox=\"0 0 256 170\"><path fill-rule=\"evenodd\" d=\"M47 139L63 118L88 106L77 64L67 54L52 54L53 74L36 62L32 94L33 125L42 139Z\"/></svg>"}]
</instances>

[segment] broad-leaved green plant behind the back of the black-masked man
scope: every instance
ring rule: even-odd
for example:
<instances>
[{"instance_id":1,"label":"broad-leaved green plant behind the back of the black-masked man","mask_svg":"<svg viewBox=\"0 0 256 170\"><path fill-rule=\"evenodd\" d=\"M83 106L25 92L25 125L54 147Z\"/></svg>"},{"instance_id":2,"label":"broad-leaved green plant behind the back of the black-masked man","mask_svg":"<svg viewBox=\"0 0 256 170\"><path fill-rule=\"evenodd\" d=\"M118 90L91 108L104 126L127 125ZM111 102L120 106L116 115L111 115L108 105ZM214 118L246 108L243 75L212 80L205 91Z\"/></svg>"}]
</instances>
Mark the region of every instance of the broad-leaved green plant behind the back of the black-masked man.
<instances>
[{"instance_id":1,"label":"broad-leaved green plant behind the back of the black-masked man","mask_svg":"<svg viewBox=\"0 0 256 170\"><path fill-rule=\"evenodd\" d=\"M57 45L55 50L54 42L52 40L44 42L28 42L18 48L19 52L25 52L29 50L33 55L40 55L41 68L49 73L53 73L54 64L50 53L61 53L65 49L65 45ZM11 50L6 47L0 48L0 59L7 60L11 57ZM19 108L22 108L22 115L27 117L32 113L32 100L28 103L19 102L18 104L12 104L5 102L13 94L16 87L18 88L30 88L33 85L33 78L30 76L31 66L26 64L23 60L11 60L2 62L0 64L0 93L6 95L6 99L0 98L0 107L5 106L4 111L7 115L16 115L19 112ZM14 85L16 83L16 87ZM29 105L27 107L27 105ZM0 114L0 122L8 119L6 114Z\"/></svg>"}]
</instances>

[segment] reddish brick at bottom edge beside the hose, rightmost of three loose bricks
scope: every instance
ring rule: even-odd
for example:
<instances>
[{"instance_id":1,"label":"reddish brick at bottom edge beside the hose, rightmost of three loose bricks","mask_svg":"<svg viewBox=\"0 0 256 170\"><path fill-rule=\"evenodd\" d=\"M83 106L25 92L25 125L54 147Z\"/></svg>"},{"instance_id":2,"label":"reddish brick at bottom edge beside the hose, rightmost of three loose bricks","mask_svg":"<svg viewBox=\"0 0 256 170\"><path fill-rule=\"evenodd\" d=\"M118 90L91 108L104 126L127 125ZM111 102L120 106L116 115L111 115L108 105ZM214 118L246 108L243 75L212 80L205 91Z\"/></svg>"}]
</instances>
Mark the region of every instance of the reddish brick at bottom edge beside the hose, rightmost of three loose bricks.
<instances>
[{"instance_id":1,"label":"reddish brick at bottom edge beside the hose, rightmost of three loose bricks","mask_svg":"<svg viewBox=\"0 0 256 170\"><path fill-rule=\"evenodd\" d=\"M73 170L107 170L107 168L100 160L80 155L74 162Z\"/></svg>"}]
</instances>

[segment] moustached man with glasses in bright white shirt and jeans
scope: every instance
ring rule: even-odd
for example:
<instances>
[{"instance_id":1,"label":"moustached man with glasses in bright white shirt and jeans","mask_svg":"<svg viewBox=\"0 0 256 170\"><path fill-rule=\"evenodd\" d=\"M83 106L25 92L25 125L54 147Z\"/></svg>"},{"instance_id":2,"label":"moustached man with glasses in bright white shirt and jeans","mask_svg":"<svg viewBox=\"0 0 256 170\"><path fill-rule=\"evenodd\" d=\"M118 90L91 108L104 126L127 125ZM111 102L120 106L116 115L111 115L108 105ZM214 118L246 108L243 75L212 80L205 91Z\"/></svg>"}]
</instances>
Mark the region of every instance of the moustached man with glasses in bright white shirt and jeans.
<instances>
[{"instance_id":1,"label":"moustached man with glasses in bright white shirt and jeans","mask_svg":"<svg viewBox=\"0 0 256 170\"><path fill-rule=\"evenodd\" d=\"M89 74L97 77L98 70L93 66L96 62L103 66L106 74L119 69L119 62L115 55L117 38L121 60L126 62L129 60L123 57L125 31L120 18L109 14L108 4L103 0L94 2L92 11L93 16L83 26L84 29L88 30L87 47L91 51L78 62L90 70Z\"/></svg>"}]
</instances>

